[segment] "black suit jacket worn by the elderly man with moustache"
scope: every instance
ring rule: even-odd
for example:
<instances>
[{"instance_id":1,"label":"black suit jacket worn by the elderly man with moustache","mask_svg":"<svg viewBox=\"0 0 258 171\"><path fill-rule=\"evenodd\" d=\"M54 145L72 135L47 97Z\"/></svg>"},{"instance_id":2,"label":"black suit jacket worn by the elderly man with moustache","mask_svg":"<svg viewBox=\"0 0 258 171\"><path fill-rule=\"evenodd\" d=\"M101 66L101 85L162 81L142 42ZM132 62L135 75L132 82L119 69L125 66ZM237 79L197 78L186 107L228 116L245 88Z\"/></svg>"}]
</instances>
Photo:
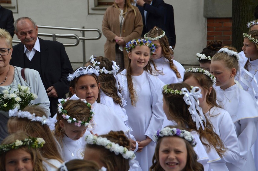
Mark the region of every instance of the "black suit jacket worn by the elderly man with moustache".
<instances>
[{"instance_id":1,"label":"black suit jacket worn by the elderly man with moustache","mask_svg":"<svg viewBox=\"0 0 258 171\"><path fill-rule=\"evenodd\" d=\"M69 81L67 76L73 72L65 46L62 43L51 40L39 39L40 43L40 63L42 82L45 89L55 87L58 98L65 98L65 93L69 92ZM10 64L24 68L24 45L19 43L13 46L12 60ZM58 98L49 97L51 115L56 112Z\"/></svg>"}]
</instances>

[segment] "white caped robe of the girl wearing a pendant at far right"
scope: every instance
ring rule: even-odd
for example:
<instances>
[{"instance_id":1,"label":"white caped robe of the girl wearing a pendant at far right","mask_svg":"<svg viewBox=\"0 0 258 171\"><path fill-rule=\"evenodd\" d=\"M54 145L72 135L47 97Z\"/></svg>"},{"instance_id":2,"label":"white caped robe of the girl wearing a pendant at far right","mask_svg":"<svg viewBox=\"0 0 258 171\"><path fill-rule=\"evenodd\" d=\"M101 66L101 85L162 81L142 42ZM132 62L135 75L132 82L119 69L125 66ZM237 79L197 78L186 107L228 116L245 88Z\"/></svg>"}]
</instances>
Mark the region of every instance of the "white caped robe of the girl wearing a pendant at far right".
<instances>
[{"instance_id":1,"label":"white caped robe of the girl wearing a pendant at far right","mask_svg":"<svg viewBox=\"0 0 258 171\"><path fill-rule=\"evenodd\" d=\"M217 101L223 109L227 110L236 127L240 146L240 160L226 163L229 170L256 170L253 155L250 150L257 138L258 107L253 97L237 84L223 91L215 88Z\"/></svg>"}]
</instances>

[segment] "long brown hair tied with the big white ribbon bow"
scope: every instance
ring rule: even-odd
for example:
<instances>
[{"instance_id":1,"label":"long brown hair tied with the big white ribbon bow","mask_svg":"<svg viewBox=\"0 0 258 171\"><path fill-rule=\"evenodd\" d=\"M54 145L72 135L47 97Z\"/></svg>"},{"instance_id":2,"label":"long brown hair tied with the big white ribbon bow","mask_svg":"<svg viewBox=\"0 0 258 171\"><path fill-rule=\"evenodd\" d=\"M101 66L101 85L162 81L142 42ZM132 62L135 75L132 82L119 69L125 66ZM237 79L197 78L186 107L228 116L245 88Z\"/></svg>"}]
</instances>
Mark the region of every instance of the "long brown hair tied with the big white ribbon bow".
<instances>
[{"instance_id":1,"label":"long brown hair tied with the big white ribbon bow","mask_svg":"<svg viewBox=\"0 0 258 171\"><path fill-rule=\"evenodd\" d=\"M191 90L190 85L185 82L169 84L167 88L171 88L172 90L181 90L182 88L187 88L188 91ZM199 128L197 130L196 123L193 122L192 115L189 112L187 105L183 99L184 95L180 94L167 94L164 91L162 92L165 102L167 103L169 118L172 118L177 125L182 126L187 131L195 130L200 135L200 140L203 145L207 146L210 150L210 146L213 146L217 153L222 157L225 152L224 144L221 141L220 137L213 131L213 126L210 123L209 119L204 115L206 119L206 124L204 130ZM203 138L208 141L208 144L203 141Z\"/></svg>"}]
</instances>

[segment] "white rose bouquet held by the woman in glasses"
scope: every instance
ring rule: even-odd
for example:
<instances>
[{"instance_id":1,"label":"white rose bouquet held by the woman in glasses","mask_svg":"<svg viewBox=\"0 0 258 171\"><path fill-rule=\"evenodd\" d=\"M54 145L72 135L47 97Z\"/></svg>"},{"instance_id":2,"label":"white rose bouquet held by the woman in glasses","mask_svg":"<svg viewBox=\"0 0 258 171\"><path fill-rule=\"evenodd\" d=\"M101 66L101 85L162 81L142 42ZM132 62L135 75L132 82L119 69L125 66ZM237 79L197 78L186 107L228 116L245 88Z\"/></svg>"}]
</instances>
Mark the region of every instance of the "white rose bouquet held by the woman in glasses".
<instances>
[{"instance_id":1,"label":"white rose bouquet held by the woman in glasses","mask_svg":"<svg viewBox=\"0 0 258 171\"><path fill-rule=\"evenodd\" d=\"M9 111L17 107L23 109L31 104L31 100L38 98L37 94L31 93L30 88L18 84L18 90L11 91L12 87L0 94L0 110ZM38 104L36 104L38 105Z\"/></svg>"}]
</instances>

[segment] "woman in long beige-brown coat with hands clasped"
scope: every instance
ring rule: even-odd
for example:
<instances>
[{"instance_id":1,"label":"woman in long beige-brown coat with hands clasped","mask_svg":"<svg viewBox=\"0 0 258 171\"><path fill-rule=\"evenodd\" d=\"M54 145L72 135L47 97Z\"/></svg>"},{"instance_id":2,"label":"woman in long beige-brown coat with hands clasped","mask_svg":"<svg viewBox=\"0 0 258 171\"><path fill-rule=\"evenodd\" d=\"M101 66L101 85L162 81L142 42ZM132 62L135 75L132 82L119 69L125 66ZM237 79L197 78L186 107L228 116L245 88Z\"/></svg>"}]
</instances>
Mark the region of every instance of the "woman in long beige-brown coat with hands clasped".
<instances>
[{"instance_id":1,"label":"woman in long beige-brown coat with hands clasped","mask_svg":"<svg viewBox=\"0 0 258 171\"><path fill-rule=\"evenodd\" d=\"M131 5L131 0L115 0L107 8L102 21L102 32L107 41L104 54L124 69L128 65L125 44L141 36L143 23L139 9Z\"/></svg>"}]
</instances>

